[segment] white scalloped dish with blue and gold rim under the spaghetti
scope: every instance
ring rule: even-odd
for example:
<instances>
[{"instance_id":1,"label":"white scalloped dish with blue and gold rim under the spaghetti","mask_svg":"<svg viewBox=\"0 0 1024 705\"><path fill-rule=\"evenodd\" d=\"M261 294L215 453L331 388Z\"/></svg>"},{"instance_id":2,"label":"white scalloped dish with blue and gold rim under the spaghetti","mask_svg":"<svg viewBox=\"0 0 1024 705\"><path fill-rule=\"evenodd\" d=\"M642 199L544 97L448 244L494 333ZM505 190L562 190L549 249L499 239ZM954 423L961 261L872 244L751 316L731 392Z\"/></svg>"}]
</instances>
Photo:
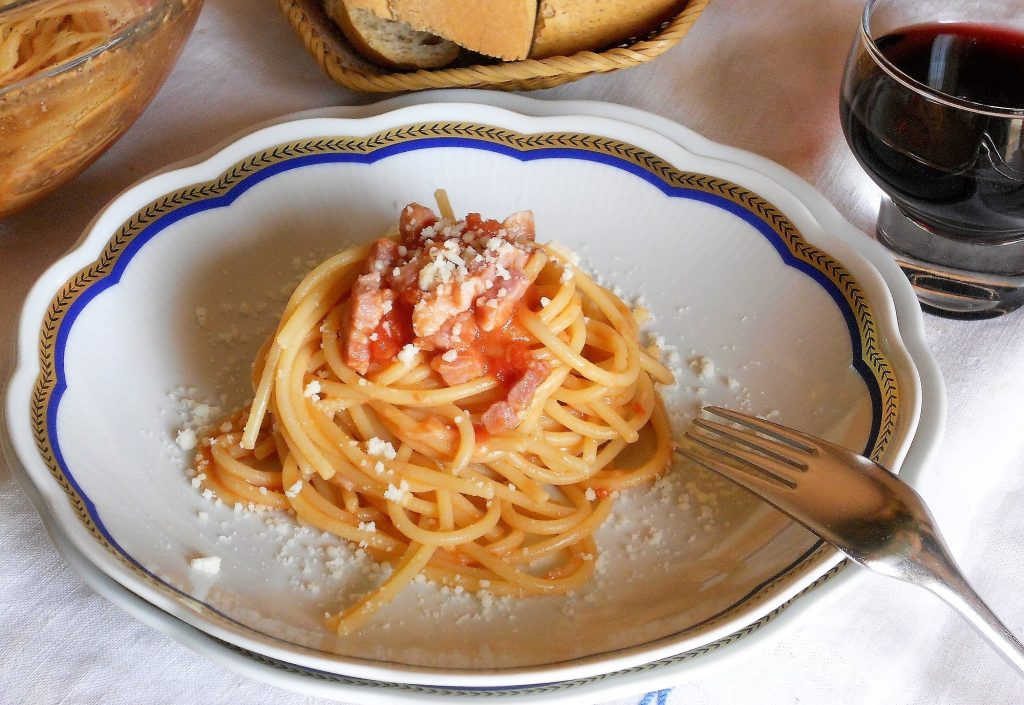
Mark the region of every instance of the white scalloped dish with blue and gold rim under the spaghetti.
<instances>
[{"instance_id":1,"label":"white scalloped dish with blue and gold rim under the spaghetti","mask_svg":"<svg viewBox=\"0 0 1024 705\"><path fill-rule=\"evenodd\" d=\"M172 443L182 419L168 395L194 385L193 399L243 402L283 287L438 185L460 210L532 208L542 240L568 244L609 284L646 298L655 331L684 361L713 360L713 374L684 366L667 392L677 424L699 401L775 411L899 466L921 387L892 299L798 196L623 122L428 105L275 125L147 179L43 276L23 316L7 421L76 549L242 648L445 687L587 677L705 649L839 565L778 514L681 467L620 503L600 534L605 578L575 598L522 600L488 620L472 598L417 586L380 615L380 628L326 635L318 615L366 578L321 575L327 539L287 529L279 538L258 517L205 502ZM197 308L208 312L205 327ZM221 555L216 581L188 572L200 552ZM435 607L422 610L419 597Z\"/></svg>"}]
</instances>

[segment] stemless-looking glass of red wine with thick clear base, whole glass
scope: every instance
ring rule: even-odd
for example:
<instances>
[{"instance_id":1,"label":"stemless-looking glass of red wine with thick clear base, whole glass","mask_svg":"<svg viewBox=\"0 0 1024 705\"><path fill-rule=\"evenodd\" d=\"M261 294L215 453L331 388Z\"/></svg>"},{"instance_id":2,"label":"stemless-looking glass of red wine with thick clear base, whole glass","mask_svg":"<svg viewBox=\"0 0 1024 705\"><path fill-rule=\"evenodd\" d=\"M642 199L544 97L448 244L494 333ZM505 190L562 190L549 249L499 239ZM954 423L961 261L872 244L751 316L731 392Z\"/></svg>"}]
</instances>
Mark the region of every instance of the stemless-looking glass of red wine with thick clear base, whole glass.
<instances>
[{"instance_id":1,"label":"stemless-looking glass of red wine with thick clear base, whole glass","mask_svg":"<svg viewBox=\"0 0 1024 705\"><path fill-rule=\"evenodd\" d=\"M995 0L869 0L840 101L886 194L878 237L926 310L1024 304L1024 12Z\"/></svg>"}]
</instances>

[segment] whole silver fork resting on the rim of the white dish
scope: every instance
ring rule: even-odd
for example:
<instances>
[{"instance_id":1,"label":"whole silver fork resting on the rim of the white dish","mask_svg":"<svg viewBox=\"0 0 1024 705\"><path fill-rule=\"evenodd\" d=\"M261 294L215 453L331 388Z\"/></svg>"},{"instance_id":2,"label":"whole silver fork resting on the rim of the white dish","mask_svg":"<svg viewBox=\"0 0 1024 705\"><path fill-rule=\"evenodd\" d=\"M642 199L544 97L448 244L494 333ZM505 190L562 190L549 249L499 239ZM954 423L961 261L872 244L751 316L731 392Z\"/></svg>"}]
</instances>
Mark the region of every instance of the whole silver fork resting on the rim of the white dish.
<instances>
[{"instance_id":1,"label":"whole silver fork resting on the rim of the white dish","mask_svg":"<svg viewBox=\"0 0 1024 705\"><path fill-rule=\"evenodd\" d=\"M931 590L1024 672L1024 646L968 584L909 485L834 443L728 409L705 411L735 425L694 419L691 443L679 454L745 487L860 565Z\"/></svg>"}]
</instances>

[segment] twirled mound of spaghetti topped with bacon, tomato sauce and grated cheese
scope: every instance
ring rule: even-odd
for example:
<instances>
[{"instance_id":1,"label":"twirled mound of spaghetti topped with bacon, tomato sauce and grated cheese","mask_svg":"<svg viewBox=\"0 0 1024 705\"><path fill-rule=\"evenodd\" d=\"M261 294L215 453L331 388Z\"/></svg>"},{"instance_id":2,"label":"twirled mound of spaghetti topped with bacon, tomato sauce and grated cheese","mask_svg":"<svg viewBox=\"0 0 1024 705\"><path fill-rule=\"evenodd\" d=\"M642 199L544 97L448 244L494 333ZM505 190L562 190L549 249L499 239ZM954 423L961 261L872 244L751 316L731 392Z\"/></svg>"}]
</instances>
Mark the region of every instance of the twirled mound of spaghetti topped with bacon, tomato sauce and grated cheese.
<instances>
[{"instance_id":1,"label":"twirled mound of spaghetti topped with bacon, tomato sauce and grated cheese","mask_svg":"<svg viewBox=\"0 0 1024 705\"><path fill-rule=\"evenodd\" d=\"M617 491L670 462L655 384L673 377L628 306L537 244L531 213L438 203L299 284L251 406L197 456L224 501L290 509L392 565L327 617L340 634L421 572L497 595L580 587Z\"/></svg>"}]
</instances>

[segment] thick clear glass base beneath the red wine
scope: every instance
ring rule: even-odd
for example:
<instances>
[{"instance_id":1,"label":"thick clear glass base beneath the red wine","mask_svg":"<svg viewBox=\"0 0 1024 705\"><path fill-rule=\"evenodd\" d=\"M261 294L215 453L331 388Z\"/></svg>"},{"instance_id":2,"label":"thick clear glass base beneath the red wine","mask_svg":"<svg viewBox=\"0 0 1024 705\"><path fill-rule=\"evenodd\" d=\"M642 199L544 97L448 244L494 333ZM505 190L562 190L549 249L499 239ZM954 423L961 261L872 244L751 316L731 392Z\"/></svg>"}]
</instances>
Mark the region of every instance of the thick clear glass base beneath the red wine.
<instances>
[{"instance_id":1,"label":"thick clear glass base beneath the red wine","mask_svg":"<svg viewBox=\"0 0 1024 705\"><path fill-rule=\"evenodd\" d=\"M879 212L878 236L930 314L990 319L1024 305L1024 276L972 271L1016 267L1017 260L1024 261L1024 242L1006 246L946 238L908 217L889 199Z\"/></svg>"}]
</instances>

